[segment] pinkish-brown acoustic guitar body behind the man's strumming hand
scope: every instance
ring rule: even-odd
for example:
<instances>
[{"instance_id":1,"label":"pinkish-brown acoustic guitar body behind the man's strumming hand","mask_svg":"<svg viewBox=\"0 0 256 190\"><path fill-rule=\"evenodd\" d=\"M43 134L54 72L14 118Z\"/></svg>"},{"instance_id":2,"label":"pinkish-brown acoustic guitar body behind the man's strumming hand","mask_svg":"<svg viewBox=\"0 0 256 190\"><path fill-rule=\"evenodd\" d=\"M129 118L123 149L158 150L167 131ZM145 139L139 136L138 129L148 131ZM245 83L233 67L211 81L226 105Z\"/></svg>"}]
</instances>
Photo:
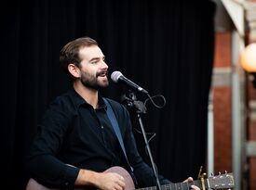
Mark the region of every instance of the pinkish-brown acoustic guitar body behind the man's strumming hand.
<instances>
[{"instance_id":1,"label":"pinkish-brown acoustic guitar body behind the man's strumming hand","mask_svg":"<svg viewBox=\"0 0 256 190\"><path fill-rule=\"evenodd\" d=\"M123 169L122 167L119 166L115 166L112 168L109 168L108 170L104 171L104 172L116 172L119 175L122 175L125 179L125 183L126 183L126 188L125 190L133 190L135 189L133 180L130 176L130 174L128 173L128 171L126 171L125 169ZM86 186L85 188L75 188L74 190L85 190L85 189L95 189L91 186ZM26 190L60 190L60 189L52 189L52 188L47 188L46 186L37 183L33 178L31 178L26 186Z\"/></svg>"}]
</instances>

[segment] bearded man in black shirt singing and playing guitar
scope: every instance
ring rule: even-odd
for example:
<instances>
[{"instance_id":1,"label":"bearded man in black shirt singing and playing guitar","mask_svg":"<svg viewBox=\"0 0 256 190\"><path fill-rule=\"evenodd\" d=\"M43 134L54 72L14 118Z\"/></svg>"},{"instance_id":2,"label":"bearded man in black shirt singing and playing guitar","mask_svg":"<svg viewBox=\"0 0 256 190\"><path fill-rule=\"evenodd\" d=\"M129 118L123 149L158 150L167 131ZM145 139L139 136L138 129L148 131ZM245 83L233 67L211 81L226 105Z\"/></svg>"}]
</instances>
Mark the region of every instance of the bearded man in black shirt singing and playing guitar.
<instances>
[{"instance_id":1,"label":"bearded man in black shirt singing and playing guitar","mask_svg":"<svg viewBox=\"0 0 256 190\"><path fill-rule=\"evenodd\" d=\"M107 116L109 107L99 90L109 84L108 66L97 42L89 37L75 39L61 49L60 61L73 82L73 89L49 105L38 125L28 157L31 176L52 187L91 185L122 190L126 186L125 176L103 172L122 166L134 174L133 180L139 187L155 185L154 172L136 148L128 110L107 99L114 110L128 160ZM170 184L161 175L159 181ZM195 185L192 188L198 189Z\"/></svg>"}]
</instances>

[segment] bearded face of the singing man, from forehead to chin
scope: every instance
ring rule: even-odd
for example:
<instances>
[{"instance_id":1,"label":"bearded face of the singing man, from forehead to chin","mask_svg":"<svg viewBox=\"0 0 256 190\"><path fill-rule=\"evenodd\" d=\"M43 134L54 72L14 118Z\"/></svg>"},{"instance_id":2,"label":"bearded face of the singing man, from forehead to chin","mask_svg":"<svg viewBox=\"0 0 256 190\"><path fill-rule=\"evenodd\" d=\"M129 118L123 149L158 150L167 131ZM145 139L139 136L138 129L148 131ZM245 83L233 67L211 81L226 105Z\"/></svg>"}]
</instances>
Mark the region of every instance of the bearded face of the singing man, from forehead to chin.
<instances>
[{"instance_id":1,"label":"bearded face of the singing man, from forehead to chin","mask_svg":"<svg viewBox=\"0 0 256 190\"><path fill-rule=\"evenodd\" d=\"M80 49L79 55L82 60L80 81L83 85L95 90L108 86L108 66L100 47L84 47Z\"/></svg>"}]
</instances>

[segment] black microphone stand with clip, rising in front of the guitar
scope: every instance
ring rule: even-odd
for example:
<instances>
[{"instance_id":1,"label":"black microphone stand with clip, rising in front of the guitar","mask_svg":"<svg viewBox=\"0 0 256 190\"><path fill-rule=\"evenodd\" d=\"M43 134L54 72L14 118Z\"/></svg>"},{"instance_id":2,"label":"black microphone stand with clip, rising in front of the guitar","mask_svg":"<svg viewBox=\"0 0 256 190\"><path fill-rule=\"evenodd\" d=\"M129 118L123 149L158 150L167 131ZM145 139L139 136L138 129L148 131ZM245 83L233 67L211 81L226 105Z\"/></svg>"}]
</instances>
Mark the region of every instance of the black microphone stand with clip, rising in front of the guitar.
<instances>
[{"instance_id":1,"label":"black microphone stand with clip, rising in front of the guitar","mask_svg":"<svg viewBox=\"0 0 256 190\"><path fill-rule=\"evenodd\" d=\"M128 96L129 97L127 97L125 95L124 100L127 100L128 107L136 109L137 117L138 117L138 120L139 120L140 125L141 125L141 132L143 134L144 142L145 142L145 145L146 145L146 150L148 152L148 155L149 155L149 158L150 158L150 161L151 161L151 164L152 164L152 168L153 168L153 171L154 171L154 174L155 174L156 189L161 190L161 184L159 182L158 173L156 171L155 161L152 157L149 142L147 140L146 133L145 133L144 126L143 126L143 122L142 122L142 119L141 119L141 114L146 113L146 107L143 104L143 102L137 100L137 96L133 92L130 91Z\"/></svg>"}]
</instances>

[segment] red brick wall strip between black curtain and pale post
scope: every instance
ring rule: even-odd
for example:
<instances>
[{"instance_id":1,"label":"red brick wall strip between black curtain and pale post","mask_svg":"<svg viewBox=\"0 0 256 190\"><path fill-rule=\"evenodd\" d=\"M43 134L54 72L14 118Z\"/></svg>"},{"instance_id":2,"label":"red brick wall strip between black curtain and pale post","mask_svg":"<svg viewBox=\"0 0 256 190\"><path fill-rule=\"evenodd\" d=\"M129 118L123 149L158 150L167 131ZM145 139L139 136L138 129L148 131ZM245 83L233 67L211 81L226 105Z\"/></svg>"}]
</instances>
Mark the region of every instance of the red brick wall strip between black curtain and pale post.
<instances>
[{"instance_id":1,"label":"red brick wall strip between black curtain and pale post","mask_svg":"<svg viewBox=\"0 0 256 190\"><path fill-rule=\"evenodd\" d=\"M214 69L230 69L230 33L216 32L215 39ZM214 85L212 92L214 113L214 171L232 171L230 82L222 82L221 84Z\"/></svg>"}]
</instances>

